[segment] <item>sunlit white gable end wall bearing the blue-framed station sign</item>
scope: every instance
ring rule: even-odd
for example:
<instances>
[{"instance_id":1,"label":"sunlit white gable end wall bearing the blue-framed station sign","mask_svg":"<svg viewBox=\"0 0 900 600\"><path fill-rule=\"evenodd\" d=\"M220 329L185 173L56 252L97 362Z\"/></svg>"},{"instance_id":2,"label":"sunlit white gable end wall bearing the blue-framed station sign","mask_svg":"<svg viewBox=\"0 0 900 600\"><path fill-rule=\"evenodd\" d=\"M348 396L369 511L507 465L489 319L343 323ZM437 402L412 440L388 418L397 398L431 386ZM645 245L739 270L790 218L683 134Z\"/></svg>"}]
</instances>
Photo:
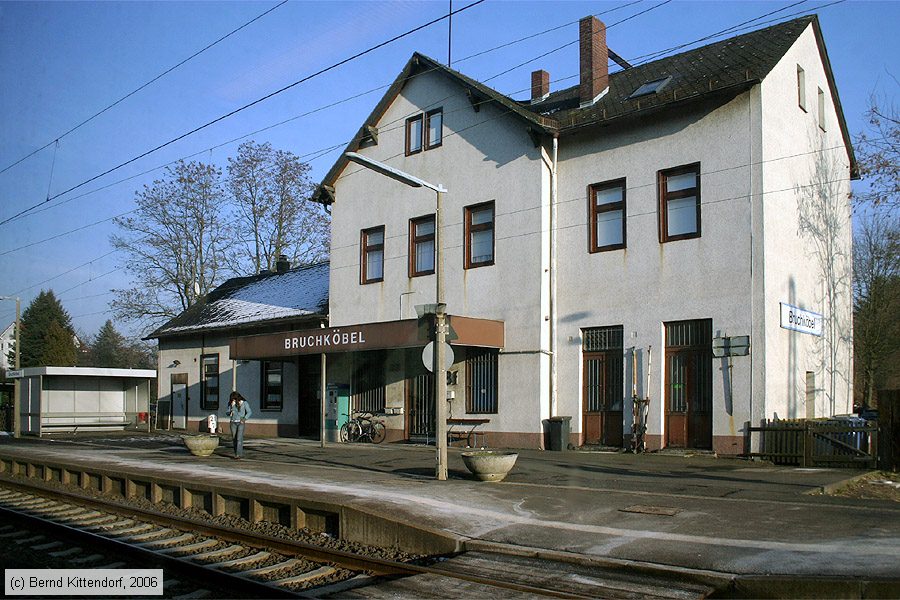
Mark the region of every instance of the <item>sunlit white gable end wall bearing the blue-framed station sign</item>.
<instances>
[{"instance_id":1,"label":"sunlit white gable end wall bearing the blue-framed station sign","mask_svg":"<svg viewBox=\"0 0 900 600\"><path fill-rule=\"evenodd\" d=\"M798 65L805 71L806 111L798 104ZM824 131L817 88L825 92ZM763 81L762 114L767 377L760 417L806 417L807 371L815 374L815 416L849 413L849 157L812 26ZM803 231L804 222L818 233ZM823 314L824 335L781 328L779 302Z\"/></svg>"}]
</instances>

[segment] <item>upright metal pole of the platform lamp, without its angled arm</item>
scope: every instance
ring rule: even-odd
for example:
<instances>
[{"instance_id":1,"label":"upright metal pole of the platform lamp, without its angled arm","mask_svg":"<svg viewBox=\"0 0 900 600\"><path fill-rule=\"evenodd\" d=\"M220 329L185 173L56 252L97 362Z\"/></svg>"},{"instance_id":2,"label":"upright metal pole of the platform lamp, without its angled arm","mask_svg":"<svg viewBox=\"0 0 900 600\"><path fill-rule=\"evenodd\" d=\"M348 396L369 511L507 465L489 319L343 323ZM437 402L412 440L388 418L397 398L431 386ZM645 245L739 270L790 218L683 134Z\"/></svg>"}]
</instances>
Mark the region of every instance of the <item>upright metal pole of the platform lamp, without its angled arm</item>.
<instances>
[{"instance_id":1,"label":"upright metal pole of the platform lamp, without its angled arm","mask_svg":"<svg viewBox=\"0 0 900 600\"><path fill-rule=\"evenodd\" d=\"M444 364L444 345L447 339L446 305L444 304L444 255L441 250L441 192L437 192L434 211L434 278L437 308L434 315L434 404L437 418L435 433L437 446L437 469L435 477L447 479L447 367Z\"/></svg>"}]
</instances>

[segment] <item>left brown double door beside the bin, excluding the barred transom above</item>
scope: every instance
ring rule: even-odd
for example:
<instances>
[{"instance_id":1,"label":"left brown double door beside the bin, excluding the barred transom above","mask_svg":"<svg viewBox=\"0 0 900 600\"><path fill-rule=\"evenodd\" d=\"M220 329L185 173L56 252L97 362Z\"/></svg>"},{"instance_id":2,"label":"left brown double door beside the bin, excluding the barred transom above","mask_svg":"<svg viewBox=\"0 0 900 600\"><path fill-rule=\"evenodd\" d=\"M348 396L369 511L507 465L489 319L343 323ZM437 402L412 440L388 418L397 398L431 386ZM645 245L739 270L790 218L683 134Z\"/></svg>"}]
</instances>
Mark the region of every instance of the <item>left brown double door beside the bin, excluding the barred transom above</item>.
<instances>
[{"instance_id":1,"label":"left brown double door beside the bin, excluding the barred transom above","mask_svg":"<svg viewBox=\"0 0 900 600\"><path fill-rule=\"evenodd\" d=\"M584 443L622 445L622 353L586 352L582 360Z\"/></svg>"}]
</instances>

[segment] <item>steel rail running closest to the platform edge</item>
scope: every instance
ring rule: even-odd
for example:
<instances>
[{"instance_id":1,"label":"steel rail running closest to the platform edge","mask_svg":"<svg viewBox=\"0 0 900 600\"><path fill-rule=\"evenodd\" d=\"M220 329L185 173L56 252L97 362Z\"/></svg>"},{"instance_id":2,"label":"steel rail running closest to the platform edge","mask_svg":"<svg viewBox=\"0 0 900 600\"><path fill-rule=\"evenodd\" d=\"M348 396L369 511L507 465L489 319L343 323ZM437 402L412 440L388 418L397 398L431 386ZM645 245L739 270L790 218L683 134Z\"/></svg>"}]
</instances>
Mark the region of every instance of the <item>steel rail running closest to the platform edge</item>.
<instances>
[{"instance_id":1,"label":"steel rail running closest to the platform edge","mask_svg":"<svg viewBox=\"0 0 900 600\"><path fill-rule=\"evenodd\" d=\"M37 490L41 494L49 496L51 498L64 500L67 502L86 504L88 506L102 509L104 512L120 515L123 517L142 519L160 525L187 529L189 531L193 531L210 537L246 544L248 546L271 548L283 554L299 555L316 562L332 563L336 566L353 571L368 571L378 576L396 577L410 575L437 575L441 577L448 577L451 579L458 579L461 581L485 585L488 587L523 592L536 596L545 596L552 598L592 597L575 592L566 592L546 587L516 583L512 581L503 581L490 577L483 577L469 573L453 572L446 569L439 569L424 565L416 565L412 563L403 563L376 557L361 556L344 550L332 550L313 544L307 544L305 542L285 540L262 533L247 531L244 529L237 529L224 525L211 525L205 521L199 521L188 517L178 517L175 515L161 513L153 510L138 509L130 506L125 506L113 499L85 496L74 492L55 489L50 486L44 485L41 482L12 479L6 475L0 475L0 483L23 491ZM147 552L150 551L147 550ZM158 555L154 554L154 556ZM215 573L220 572L221 571L215 571ZM247 581L246 579L240 580ZM273 589L278 589L282 592L285 591L283 588L275 588L274 586L269 586L270 591ZM310 591L312 592L314 590ZM303 592L291 592L290 595L303 595Z\"/></svg>"}]
</instances>

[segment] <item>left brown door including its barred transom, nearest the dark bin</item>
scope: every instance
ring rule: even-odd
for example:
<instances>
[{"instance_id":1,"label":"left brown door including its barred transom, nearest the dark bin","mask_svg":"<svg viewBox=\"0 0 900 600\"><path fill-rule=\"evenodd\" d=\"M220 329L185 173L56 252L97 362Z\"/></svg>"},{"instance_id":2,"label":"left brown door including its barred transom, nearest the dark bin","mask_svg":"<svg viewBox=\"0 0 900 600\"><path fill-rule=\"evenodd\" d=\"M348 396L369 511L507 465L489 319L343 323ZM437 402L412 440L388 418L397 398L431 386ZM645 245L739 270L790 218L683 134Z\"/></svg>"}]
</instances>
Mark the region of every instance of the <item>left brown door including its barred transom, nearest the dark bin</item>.
<instances>
[{"instance_id":1,"label":"left brown door including its barred transom, nearest the dark bin","mask_svg":"<svg viewBox=\"0 0 900 600\"><path fill-rule=\"evenodd\" d=\"M582 333L582 423L585 444L622 445L622 327Z\"/></svg>"}]
</instances>

